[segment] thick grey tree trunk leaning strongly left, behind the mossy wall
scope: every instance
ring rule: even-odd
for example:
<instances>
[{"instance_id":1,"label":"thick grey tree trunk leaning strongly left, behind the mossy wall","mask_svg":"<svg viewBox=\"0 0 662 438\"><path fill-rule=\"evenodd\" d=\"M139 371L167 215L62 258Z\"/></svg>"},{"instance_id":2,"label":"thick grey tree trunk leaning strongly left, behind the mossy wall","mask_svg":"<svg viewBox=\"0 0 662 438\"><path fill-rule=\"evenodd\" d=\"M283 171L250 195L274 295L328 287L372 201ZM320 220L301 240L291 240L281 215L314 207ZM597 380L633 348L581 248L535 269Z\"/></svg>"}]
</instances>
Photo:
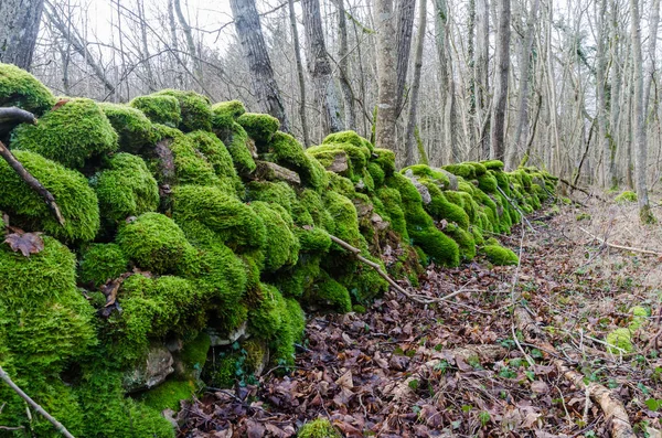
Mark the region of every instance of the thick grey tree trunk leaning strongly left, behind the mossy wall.
<instances>
[{"instance_id":1,"label":"thick grey tree trunk leaning strongly left, behind the mossy wall","mask_svg":"<svg viewBox=\"0 0 662 438\"><path fill-rule=\"evenodd\" d=\"M259 24L255 0L231 0L235 29L248 61L253 89L263 110L280 120L280 129L288 132L289 122L280 97L274 68L267 53L265 38Z\"/></svg>"}]
</instances>

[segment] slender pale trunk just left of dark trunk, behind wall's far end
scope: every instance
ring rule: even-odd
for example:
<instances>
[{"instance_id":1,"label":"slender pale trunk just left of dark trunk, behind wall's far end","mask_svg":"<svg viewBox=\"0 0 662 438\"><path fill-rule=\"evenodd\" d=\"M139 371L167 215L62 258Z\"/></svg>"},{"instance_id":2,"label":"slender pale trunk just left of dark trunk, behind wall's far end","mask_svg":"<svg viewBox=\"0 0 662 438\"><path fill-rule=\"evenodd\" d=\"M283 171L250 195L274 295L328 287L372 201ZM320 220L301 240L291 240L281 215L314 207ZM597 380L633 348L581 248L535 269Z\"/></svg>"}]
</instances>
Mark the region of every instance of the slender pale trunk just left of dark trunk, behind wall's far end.
<instances>
[{"instance_id":1,"label":"slender pale trunk just left of dark trunk, behind wall's far end","mask_svg":"<svg viewBox=\"0 0 662 438\"><path fill-rule=\"evenodd\" d=\"M489 126L489 62L490 62L490 8L488 0L476 0L476 114L478 116L478 138L481 158L490 156L490 138L483 132ZM487 129L482 129L485 125Z\"/></svg>"}]
</instances>

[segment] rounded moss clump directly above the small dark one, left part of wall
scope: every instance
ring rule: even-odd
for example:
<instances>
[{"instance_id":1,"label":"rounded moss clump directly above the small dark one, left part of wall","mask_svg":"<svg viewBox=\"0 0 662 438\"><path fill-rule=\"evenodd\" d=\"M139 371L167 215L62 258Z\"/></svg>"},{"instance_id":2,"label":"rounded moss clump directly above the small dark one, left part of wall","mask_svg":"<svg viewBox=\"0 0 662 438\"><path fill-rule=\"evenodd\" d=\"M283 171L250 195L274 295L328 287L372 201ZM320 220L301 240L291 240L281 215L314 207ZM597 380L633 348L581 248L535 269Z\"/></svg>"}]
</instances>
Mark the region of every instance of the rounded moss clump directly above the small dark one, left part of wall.
<instances>
[{"instance_id":1,"label":"rounded moss clump directly above the small dark one, left part of wall","mask_svg":"<svg viewBox=\"0 0 662 438\"><path fill-rule=\"evenodd\" d=\"M159 207L157 180L140 157L125 152L113 156L106 170L89 183L97 193L103 217L111 224Z\"/></svg>"}]
</instances>

